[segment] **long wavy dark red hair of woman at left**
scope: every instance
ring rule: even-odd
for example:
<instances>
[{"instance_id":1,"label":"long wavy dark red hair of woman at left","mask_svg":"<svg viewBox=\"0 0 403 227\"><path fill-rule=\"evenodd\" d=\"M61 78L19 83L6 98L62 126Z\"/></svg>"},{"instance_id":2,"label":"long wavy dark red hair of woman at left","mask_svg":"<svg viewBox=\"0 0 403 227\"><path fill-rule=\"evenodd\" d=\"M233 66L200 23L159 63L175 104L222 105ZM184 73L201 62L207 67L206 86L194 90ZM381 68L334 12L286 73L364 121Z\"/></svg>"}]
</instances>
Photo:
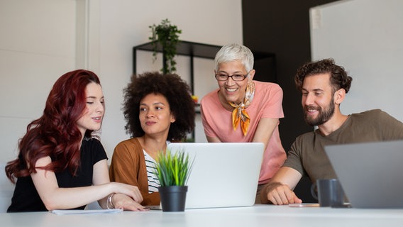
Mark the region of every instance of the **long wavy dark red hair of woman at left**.
<instances>
[{"instance_id":1,"label":"long wavy dark red hair of woman at left","mask_svg":"<svg viewBox=\"0 0 403 227\"><path fill-rule=\"evenodd\" d=\"M26 134L19 140L18 158L6 165L11 182L35 173L35 163L46 156L52 162L44 170L60 172L68 168L72 175L77 172L82 142L77 121L86 108L85 89L89 83L101 84L96 74L88 70L67 72L57 79L43 115L28 124ZM91 134L92 131L86 132L86 136Z\"/></svg>"}]
</instances>

